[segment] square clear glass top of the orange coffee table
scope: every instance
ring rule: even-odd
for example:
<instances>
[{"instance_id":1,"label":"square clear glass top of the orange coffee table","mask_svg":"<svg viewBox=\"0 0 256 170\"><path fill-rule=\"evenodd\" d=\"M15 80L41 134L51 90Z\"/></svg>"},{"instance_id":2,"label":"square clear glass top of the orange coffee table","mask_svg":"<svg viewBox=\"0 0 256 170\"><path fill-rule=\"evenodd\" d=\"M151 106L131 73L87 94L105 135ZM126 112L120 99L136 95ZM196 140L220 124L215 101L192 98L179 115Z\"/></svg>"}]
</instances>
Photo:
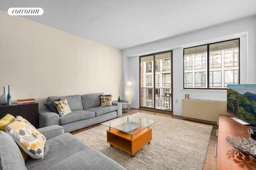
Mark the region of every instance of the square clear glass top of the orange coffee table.
<instances>
[{"instance_id":1,"label":"square clear glass top of the orange coffee table","mask_svg":"<svg viewBox=\"0 0 256 170\"><path fill-rule=\"evenodd\" d=\"M143 129L149 128L154 123L156 123L156 121L151 119L127 115L101 124L108 126L110 131L111 128L113 128L130 135L135 135Z\"/></svg>"}]
</instances>

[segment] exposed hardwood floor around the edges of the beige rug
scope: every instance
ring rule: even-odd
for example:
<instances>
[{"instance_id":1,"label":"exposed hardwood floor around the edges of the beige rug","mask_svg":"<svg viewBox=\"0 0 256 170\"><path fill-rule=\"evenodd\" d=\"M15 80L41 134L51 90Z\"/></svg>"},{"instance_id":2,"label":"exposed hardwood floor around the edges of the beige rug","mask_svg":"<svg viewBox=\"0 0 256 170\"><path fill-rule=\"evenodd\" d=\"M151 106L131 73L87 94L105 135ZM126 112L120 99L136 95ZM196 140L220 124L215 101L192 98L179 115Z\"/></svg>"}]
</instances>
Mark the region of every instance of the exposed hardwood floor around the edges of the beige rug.
<instances>
[{"instance_id":1,"label":"exposed hardwood floor around the edges of the beige rug","mask_svg":"<svg viewBox=\"0 0 256 170\"><path fill-rule=\"evenodd\" d=\"M186 120L183 119L182 116L177 116L177 115L173 115L172 113L160 113L160 112L155 112L155 111L150 111L150 110L142 110L142 109L129 109L129 115L132 115L134 113L147 113L147 114L152 114L152 115L160 115L160 116L165 116L165 117L172 117L174 119L181 119L181 120L185 120L185 121L191 121L191 120ZM122 116L124 115L128 115L128 113L123 113ZM196 123L202 123L202 122L198 122L198 121L192 121L192 122L196 122ZM217 125L213 125L213 124L209 124L209 123L204 123L207 125L212 125L212 133L211 133L211 137L210 137L210 141L209 141L209 146L208 146L208 151L207 151L207 155L206 155L206 161L204 164L204 170L216 170L216 163L217 163L217 158L214 156L215 155L215 144L217 143L217 137L216 137L216 130L218 129ZM86 127L83 129L79 129L77 131L73 131L71 132L72 135L100 126L100 123L96 124L96 125L92 125L90 127Z\"/></svg>"}]
</instances>

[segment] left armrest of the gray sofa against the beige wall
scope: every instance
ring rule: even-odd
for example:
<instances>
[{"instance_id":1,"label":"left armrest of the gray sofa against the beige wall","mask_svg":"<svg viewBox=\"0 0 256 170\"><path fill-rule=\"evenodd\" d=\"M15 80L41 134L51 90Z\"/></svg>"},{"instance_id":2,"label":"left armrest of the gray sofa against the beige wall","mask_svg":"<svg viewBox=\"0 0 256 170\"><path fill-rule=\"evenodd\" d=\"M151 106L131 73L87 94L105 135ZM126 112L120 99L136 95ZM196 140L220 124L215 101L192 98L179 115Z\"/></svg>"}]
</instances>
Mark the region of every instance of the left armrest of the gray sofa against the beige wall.
<instances>
[{"instance_id":1,"label":"left armrest of the gray sofa against the beige wall","mask_svg":"<svg viewBox=\"0 0 256 170\"><path fill-rule=\"evenodd\" d=\"M50 110L39 110L39 127L47 127L51 125L60 125L60 115Z\"/></svg>"}]
</instances>

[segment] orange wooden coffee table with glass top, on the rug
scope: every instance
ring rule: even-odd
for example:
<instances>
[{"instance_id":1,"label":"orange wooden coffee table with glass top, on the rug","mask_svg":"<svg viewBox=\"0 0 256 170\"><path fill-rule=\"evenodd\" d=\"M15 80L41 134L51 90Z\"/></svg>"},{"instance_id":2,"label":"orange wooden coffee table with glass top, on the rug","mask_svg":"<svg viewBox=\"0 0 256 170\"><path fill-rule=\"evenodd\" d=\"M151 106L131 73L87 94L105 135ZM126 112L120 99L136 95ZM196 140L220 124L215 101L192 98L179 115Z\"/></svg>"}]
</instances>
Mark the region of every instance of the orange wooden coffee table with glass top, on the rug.
<instances>
[{"instance_id":1,"label":"orange wooden coffee table with glass top, on the rug","mask_svg":"<svg viewBox=\"0 0 256 170\"><path fill-rule=\"evenodd\" d=\"M152 140L152 128L156 123L151 119L137 116L124 116L114 121L102 123L108 126L107 142L135 156L135 153Z\"/></svg>"}]
</instances>

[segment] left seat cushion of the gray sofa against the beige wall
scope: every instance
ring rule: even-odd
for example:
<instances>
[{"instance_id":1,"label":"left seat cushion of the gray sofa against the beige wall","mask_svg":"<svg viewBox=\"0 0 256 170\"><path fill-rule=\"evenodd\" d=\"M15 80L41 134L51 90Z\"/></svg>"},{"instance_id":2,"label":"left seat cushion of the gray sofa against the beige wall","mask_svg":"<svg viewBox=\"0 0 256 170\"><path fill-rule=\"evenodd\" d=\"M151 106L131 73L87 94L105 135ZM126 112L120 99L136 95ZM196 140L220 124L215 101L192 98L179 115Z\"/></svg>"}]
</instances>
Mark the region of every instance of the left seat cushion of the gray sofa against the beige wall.
<instances>
[{"instance_id":1,"label":"left seat cushion of the gray sofa against the beige wall","mask_svg":"<svg viewBox=\"0 0 256 170\"><path fill-rule=\"evenodd\" d=\"M94 111L76 110L76 111L72 111L72 113L69 113L67 115L60 117L59 122L60 122L60 125L64 125L67 123L80 121L83 119L89 119L92 117L95 117Z\"/></svg>"}]
</instances>

